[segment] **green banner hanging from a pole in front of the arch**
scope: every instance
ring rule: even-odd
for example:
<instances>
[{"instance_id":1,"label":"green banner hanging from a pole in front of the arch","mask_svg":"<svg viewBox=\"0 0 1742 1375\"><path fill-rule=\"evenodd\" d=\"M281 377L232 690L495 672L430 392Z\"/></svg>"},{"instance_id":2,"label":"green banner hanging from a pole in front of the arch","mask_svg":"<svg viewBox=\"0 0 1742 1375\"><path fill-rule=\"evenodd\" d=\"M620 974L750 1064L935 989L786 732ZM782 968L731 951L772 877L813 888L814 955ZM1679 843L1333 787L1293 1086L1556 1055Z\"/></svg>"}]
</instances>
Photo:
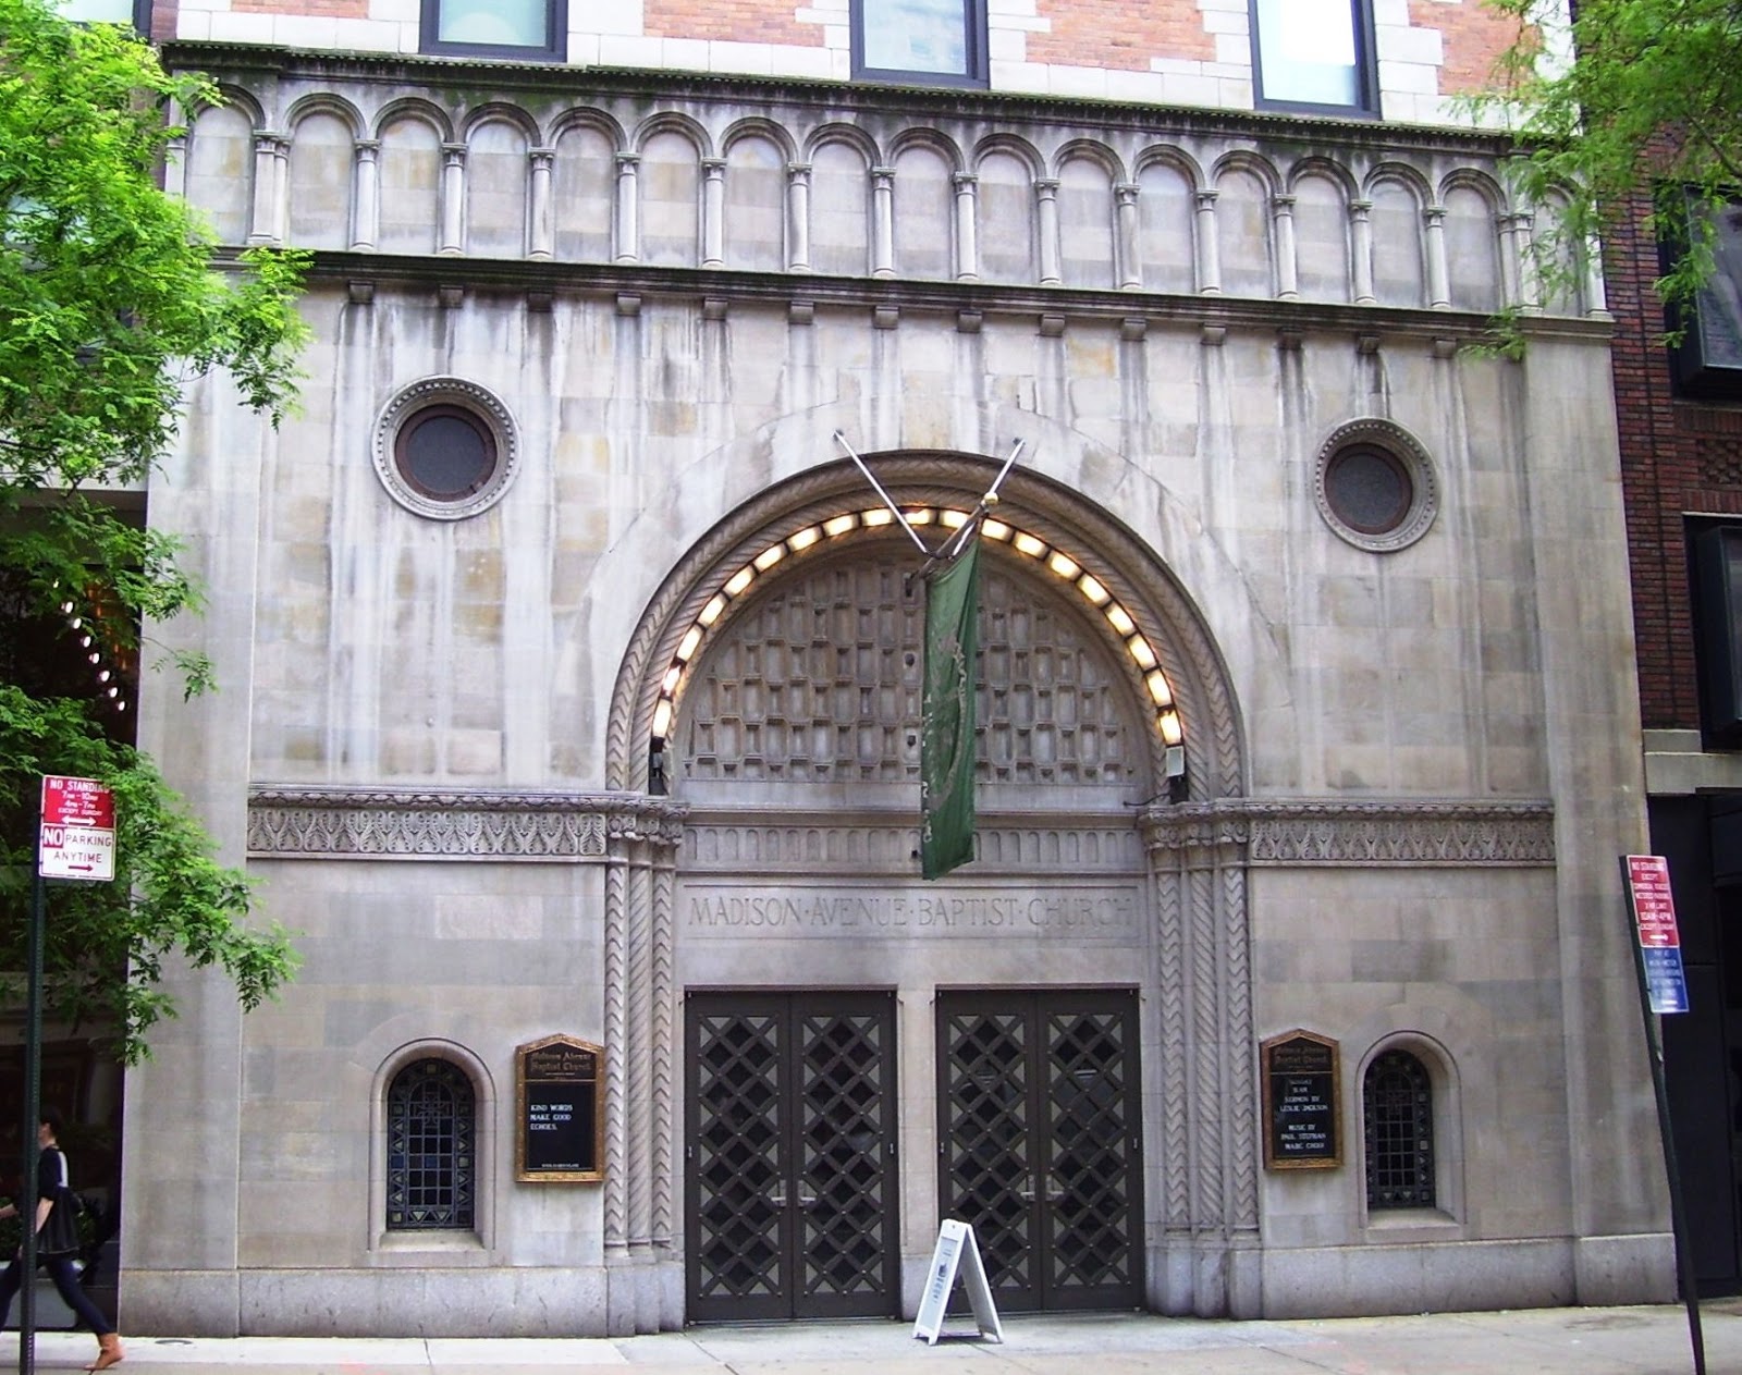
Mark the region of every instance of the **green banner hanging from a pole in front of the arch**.
<instances>
[{"instance_id":1,"label":"green banner hanging from a pole in front of the arch","mask_svg":"<svg viewBox=\"0 0 1742 1375\"><path fill-rule=\"evenodd\" d=\"M974 676L979 532L925 580L925 694L920 702L920 871L942 878L974 857Z\"/></svg>"}]
</instances>

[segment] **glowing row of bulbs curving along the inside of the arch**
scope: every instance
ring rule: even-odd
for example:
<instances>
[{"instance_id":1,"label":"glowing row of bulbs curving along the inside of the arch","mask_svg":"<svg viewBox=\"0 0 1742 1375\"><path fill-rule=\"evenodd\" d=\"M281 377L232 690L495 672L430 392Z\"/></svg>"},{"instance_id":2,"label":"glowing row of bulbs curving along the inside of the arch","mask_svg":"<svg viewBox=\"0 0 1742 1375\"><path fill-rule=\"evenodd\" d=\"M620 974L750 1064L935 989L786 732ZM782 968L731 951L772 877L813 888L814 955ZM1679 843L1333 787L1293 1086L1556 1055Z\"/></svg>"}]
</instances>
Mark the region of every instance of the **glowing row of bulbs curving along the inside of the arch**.
<instances>
[{"instance_id":1,"label":"glowing row of bulbs curving along the inside of the arch","mask_svg":"<svg viewBox=\"0 0 1742 1375\"><path fill-rule=\"evenodd\" d=\"M935 505L902 507L902 516L908 518L909 525L935 525L944 530L960 530L969 521L967 511ZM787 535L784 540L770 544L756 558L728 577L721 584L719 591L707 599L707 605L702 606L695 620L690 622L688 629L685 629L683 638L678 641L678 650L672 654L671 664L665 669L665 676L660 678L658 699L653 702L653 728L648 741L650 755L653 758L664 758L665 744L671 737L671 727L678 718L678 697L683 694L685 680L697 662L702 643L707 640L707 634L714 629L714 626L719 624L726 608L733 601L740 599L756 579L789 558L805 554L817 545L841 540L855 530L881 530L885 526L892 526L894 523L895 516L888 511L888 507L845 511L840 516L829 516L826 521L819 521L817 525L807 525L803 530ZM1078 596L1082 596L1103 615L1143 676L1143 685L1150 695L1150 706L1155 711L1155 728L1160 732L1162 744L1167 751L1167 777L1181 777L1186 772L1186 749L1179 709L1174 706L1174 690L1155 655L1155 647L1143 634L1131 612L1127 612L1113 598L1101 579L1089 573L1082 563L1073 559L1064 551L1047 544L1038 535L1030 535L1026 530L1017 530L1007 521L988 516L986 523L981 526L981 538L1007 544L1017 554L1033 559L1059 582L1075 587Z\"/></svg>"}]
</instances>

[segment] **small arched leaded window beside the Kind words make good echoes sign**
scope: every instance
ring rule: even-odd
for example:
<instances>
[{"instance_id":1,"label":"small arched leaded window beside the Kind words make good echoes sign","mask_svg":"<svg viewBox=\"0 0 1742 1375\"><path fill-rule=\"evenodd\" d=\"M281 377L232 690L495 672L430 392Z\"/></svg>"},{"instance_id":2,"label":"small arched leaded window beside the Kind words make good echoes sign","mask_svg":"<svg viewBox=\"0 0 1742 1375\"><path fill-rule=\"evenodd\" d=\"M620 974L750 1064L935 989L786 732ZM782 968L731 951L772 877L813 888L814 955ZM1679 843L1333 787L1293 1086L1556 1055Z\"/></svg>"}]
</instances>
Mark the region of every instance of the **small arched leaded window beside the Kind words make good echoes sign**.
<instances>
[{"instance_id":1,"label":"small arched leaded window beside the Kind words make good echoes sign","mask_svg":"<svg viewBox=\"0 0 1742 1375\"><path fill-rule=\"evenodd\" d=\"M472 1230L477 1098L451 1060L418 1060L387 1089L387 1229Z\"/></svg>"}]
</instances>

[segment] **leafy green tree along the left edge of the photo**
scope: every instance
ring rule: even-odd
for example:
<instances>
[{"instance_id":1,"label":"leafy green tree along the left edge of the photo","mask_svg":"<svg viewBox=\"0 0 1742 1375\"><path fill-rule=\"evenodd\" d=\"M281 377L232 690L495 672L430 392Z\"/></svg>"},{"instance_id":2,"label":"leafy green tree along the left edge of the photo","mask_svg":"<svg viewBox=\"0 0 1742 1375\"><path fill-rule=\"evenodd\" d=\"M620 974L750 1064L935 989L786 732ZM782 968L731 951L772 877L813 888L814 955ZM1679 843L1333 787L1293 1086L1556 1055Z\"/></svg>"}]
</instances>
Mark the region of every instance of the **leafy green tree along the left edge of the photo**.
<instances>
[{"instance_id":1,"label":"leafy green tree along the left edge of the photo","mask_svg":"<svg viewBox=\"0 0 1742 1375\"><path fill-rule=\"evenodd\" d=\"M115 882L51 885L45 1006L113 1037L127 1063L174 1014L165 960L223 969L244 1007L296 964L284 931L251 922L246 878L213 859L115 711L141 657L190 694L211 678L199 657L153 664L139 643L139 626L197 612L200 596L176 540L125 493L206 371L226 371L277 423L307 336L294 308L305 260L226 260L160 190L178 132L165 112L216 99L122 24L0 0L0 969L24 964L40 776L101 779L115 789ZM19 983L0 976L0 995Z\"/></svg>"}]
</instances>

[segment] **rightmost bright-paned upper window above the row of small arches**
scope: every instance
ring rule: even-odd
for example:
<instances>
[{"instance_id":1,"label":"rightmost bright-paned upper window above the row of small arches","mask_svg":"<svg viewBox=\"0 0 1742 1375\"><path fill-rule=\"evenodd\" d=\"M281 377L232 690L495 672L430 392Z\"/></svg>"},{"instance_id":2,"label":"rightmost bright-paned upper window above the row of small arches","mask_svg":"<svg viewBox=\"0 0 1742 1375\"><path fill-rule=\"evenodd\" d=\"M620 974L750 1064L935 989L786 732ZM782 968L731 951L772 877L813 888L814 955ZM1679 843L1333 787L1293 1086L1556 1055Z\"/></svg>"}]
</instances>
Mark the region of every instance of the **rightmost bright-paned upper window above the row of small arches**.
<instances>
[{"instance_id":1,"label":"rightmost bright-paned upper window above the row of small arches","mask_svg":"<svg viewBox=\"0 0 1742 1375\"><path fill-rule=\"evenodd\" d=\"M1378 113L1369 0L1252 0L1251 24L1259 108Z\"/></svg>"}]
</instances>

